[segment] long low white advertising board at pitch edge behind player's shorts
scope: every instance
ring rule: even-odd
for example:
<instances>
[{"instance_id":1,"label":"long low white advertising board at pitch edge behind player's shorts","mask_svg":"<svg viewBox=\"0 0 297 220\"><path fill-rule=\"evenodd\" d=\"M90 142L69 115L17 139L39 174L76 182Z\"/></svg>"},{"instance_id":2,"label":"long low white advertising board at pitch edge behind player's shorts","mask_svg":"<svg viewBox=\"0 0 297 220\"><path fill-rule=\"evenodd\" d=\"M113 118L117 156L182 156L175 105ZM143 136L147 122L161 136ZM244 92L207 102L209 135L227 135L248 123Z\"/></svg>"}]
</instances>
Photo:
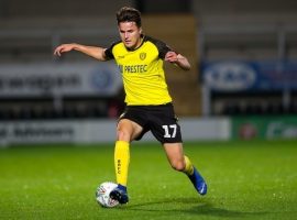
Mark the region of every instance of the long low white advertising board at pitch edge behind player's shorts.
<instances>
[{"instance_id":1,"label":"long low white advertising board at pitch edge behind player's shorts","mask_svg":"<svg viewBox=\"0 0 297 220\"><path fill-rule=\"evenodd\" d=\"M184 141L229 140L230 120L180 119ZM10 144L100 143L116 140L117 120L19 121L0 124L0 146ZM148 132L142 141L155 141Z\"/></svg>"}]
</instances>

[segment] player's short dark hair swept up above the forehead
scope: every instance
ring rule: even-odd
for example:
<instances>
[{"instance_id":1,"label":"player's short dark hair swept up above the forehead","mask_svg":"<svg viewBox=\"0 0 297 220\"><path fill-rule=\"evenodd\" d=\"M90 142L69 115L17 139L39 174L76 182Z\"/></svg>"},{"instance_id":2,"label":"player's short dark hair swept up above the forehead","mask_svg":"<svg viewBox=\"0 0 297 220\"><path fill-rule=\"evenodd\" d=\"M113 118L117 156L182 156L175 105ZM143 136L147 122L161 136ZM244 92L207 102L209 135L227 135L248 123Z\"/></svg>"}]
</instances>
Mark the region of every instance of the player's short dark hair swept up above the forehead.
<instances>
[{"instance_id":1,"label":"player's short dark hair swept up above the forehead","mask_svg":"<svg viewBox=\"0 0 297 220\"><path fill-rule=\"evenodd\" d=\"M123 7L117 12L118 25L121 22L132 21L135 22L138 28L141 28L141 12L131 7Z\"/></svg>"}]
</instances>

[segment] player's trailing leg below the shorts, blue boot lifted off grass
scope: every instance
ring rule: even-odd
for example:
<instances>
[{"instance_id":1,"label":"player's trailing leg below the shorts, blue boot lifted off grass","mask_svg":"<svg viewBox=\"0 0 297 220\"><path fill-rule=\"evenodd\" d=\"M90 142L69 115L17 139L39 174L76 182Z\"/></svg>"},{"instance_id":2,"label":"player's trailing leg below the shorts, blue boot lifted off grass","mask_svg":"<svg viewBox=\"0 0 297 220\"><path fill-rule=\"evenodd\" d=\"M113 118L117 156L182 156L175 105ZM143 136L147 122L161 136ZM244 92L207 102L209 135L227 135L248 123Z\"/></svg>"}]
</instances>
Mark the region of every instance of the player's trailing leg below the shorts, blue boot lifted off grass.
<instances>
[{"instance_id":1,"label":"player's trailing leg below the shorts, blue boot lifted off grass","mask_svg":"<svg viewBox=\"0 0 297 220\"><path fill-rule=\"evenodd\" d=\"M176 170L185 173L194 187L200 195L207 194L207 184L204 177L191 164L190 160L184 155L182 143L164 143L163 144L167 158L172 167Z\"/></svg>"}]
</instances>

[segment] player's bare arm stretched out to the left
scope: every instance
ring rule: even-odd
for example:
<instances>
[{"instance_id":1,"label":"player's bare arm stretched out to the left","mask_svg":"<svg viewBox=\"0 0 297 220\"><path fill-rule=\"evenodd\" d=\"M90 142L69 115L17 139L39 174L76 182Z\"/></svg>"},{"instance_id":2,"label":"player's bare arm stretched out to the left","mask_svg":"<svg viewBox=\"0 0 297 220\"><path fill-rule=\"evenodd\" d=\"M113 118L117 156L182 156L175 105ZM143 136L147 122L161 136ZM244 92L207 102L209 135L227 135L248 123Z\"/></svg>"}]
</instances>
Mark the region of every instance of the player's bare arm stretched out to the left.
<instances>
[{"instance_id":1,"label":"player's bare arm stretched out to the left","mask_svg":"<svg viewBox=\"0 0 297 220\"><path fill-rule=\"evenodd\" d=\"M106 48L102 48L99 46L86 46L86 45L76 44L76 43L62 44L57 46L54 51L54 55L62 56L63 53L70 52L70 51L80 52L96 59L99 59L101 62L107 61L106 53L105 53Z\"/></svg>"}]
</instances>

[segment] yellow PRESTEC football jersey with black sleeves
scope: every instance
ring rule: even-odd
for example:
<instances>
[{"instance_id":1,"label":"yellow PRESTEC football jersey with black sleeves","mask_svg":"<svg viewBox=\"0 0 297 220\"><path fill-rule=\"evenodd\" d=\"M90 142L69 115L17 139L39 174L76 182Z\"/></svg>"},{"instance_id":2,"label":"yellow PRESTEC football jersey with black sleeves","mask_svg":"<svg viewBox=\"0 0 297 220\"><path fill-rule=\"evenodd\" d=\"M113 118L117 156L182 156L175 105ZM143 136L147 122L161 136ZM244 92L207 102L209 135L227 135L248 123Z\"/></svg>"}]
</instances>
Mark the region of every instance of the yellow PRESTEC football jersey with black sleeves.
<instances>
[{"instance_id":1,"label":"yellow PRESTEC football jersey with black sleeves","mask_svg":"<svg viewBox=\"0 0 297 220\"><path fill-rule=\"evenodd\" d=\"M165 80L163 59L170 48L163 42L144 36L134 51L117 42L106 50L122 74L128 106L157 106L172 101Z\"/></svg>"}]
</instances>

